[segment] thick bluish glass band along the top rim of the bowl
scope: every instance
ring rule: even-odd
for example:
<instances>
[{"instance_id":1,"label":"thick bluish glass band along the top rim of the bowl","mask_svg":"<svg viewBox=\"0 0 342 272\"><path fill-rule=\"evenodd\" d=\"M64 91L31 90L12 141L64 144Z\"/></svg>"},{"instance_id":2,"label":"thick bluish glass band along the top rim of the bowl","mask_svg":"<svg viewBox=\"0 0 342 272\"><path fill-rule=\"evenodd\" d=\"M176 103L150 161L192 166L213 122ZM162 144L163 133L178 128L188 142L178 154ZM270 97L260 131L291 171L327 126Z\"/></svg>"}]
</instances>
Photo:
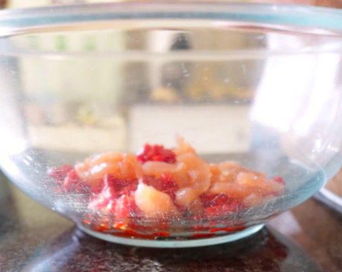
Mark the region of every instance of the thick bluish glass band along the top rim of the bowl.
<instances>
[{"instance_id":1,"label":"thick bluish glass band along the top rim of the bowl","mask_svg":"<svg viewBox=\"0 0 342 272\"><path fill-rule=\"evenodd\" d=\"M238 2L116 2L0 11L4 30L98 20L205 19L321 28L342 33L342 10L297 4Z\"/></svg>"}]
</instances>

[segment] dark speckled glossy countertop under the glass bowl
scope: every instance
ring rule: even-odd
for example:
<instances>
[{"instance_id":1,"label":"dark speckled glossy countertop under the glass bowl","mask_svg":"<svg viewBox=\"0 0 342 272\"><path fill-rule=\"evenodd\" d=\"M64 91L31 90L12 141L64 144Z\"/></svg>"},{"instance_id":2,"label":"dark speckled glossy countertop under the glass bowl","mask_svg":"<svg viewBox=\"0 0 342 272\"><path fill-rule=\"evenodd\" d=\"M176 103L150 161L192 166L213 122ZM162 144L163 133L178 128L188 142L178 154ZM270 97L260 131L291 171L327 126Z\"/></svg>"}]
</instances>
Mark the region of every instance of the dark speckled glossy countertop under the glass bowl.
<instances>
[{"instance_id":1,"label":"dark speckled glossy countertop under the glass bowl","mask_svg":"<svg viewBox=\"0 0 342 272\"><path fill-rule=\"evenodd\" d=\"M238 242L153 249L104 242L0 180L0 271L342 271L342 216L314 199Z\"/></svg>"}]
</instances>

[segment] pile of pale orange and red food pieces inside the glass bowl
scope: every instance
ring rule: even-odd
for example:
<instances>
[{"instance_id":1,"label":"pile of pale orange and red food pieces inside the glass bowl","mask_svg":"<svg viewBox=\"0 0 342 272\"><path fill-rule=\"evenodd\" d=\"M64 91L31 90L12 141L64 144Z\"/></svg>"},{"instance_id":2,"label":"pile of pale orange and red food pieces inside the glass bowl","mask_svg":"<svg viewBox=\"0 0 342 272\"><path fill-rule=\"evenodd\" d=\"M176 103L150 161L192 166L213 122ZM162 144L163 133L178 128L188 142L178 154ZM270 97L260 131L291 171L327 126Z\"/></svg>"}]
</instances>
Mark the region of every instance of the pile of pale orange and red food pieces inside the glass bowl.
<instances>
[{"instance_id":1,"label":"pile of pale orange and red food pieces inside the glass bowl","mask_svg":"<svg viewBox=\"0 0 342 272\"><path fill-rule=\"evenodd\" d=\"M181 137L172 149L145 144L137 155L96 154L48 173L61 193L87 197L83 224L89 228L151 239L184 231L172 227L175 221L198 220L193 228L209 231L207 236L215 229L241 230L243 222L236 228L211 227L217 219L222 224L227 214L261 205L285 188L281 177L267 178L232 161L209 164ZM144 226L144 220L150 224Z\"/></svg>"}]
</instances>

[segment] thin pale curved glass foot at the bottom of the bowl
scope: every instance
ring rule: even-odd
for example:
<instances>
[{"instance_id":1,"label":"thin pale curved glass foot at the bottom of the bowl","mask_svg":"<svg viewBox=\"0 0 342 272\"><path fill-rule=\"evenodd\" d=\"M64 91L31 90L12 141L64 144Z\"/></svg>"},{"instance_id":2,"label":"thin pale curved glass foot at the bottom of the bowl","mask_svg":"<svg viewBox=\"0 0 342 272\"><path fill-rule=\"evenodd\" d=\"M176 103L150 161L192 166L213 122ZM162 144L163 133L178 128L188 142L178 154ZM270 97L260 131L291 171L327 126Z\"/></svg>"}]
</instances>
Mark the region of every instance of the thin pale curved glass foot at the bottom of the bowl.
<instances>
[{"instance_id":1,"label":"thin pale curved glass foot at the bottom of the bowl","mask_svg":"<svg viewBox=\"0 0 342 272\"><path fill-rule=\"evenodd\" d=\"M242 231L234 232L227 235L220 235L217 237L211 238L201 238L201 239L189 239L189 240L148 240L148 239L138 239L138 238L123 238L118 237L112 234L105 234L96 231L92 231L88 228L85 228L82 225L78 225L78 228L83 232L94 236L96 238L122 244L122 245L130 245L130 246L139 246L139 247L158 247L158 248L185 248L185 247L199 247L199 246L211 246L217 244L223 244L228 242L233 242L242 238L245 238L249 235L252 235L263 228L264 224L259 224L255 226L251 226Z\"/></svg>"}]
</instances>

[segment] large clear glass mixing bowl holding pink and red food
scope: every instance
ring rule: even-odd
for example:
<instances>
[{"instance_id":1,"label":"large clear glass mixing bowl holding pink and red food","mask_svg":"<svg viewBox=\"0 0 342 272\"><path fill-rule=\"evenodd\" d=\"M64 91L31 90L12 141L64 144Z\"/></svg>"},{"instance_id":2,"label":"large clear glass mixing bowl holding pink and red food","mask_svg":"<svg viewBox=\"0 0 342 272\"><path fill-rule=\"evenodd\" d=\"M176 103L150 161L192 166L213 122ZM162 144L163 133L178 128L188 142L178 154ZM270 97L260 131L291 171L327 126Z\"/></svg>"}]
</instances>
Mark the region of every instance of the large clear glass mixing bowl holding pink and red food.
<instances>
[{"instance_id":1,"label":"large clear glass mixing bowl holding pink and red food","mask_svg":"<svg viewBox=\"0 0 342 272\"><path fill-rule=\"evenodd\" d=\"M0 164L99 238L250 235L342 165L342 12L92 4L0 12Z\"/></svg>"}]
</instances>

